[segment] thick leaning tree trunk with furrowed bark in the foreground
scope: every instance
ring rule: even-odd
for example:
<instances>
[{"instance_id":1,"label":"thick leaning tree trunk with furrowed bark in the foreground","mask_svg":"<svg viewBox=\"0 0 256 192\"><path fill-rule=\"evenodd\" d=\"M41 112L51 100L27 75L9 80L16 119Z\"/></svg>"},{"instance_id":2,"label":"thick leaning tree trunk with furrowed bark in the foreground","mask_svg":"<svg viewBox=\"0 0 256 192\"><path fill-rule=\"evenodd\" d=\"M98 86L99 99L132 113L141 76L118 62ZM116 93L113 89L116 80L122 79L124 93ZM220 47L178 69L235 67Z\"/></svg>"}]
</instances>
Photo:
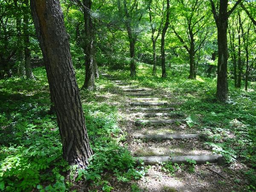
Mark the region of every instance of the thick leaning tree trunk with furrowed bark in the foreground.
<instances>
[{"instance_id":1,"label":"thick leaning tree trunk with furrowed bark in the foreground","mask_svg":"<svg viewBox=\"0 0 256 192\"><path fill-rule=\"evenodd\" d=\"M30 6L56 107L63 157L70 165L85 168L93 153L87 137L60 3L58 0L30 0Z\"/></svg>"}]
</instances>

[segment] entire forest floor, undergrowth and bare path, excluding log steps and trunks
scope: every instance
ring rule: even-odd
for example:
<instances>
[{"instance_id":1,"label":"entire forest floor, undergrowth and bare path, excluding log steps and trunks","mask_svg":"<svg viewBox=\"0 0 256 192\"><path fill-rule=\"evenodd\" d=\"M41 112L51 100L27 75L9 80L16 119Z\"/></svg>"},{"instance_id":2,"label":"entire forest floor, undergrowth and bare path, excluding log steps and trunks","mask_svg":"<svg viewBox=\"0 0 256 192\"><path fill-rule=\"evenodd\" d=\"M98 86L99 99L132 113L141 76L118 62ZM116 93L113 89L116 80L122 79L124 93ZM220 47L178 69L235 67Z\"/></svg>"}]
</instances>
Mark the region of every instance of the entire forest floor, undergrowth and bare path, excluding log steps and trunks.
<instances>
[{"instance_id":1,"label":"entire forest floor, undergrowth and bare path, excluding log steps and trunks","mask_svg":"<svg viewBox=\"0 0 256 192\"><path fill-rule=\"evenodd\" d=\"M215 98L216 78L180 76L167 68L168 77L151 76L151 66L139 64L137 76L129 70L100 67L116 79L100 76L96 90L81 90L86 127L94 151L92 164L78 177L62 160L56 116L49 115L49 87L43 67L33 69L36 79L0 80L0 190L3 191L256 191L256 83L249 91L230 80L227 103ZM79 87L84 69L76 70ZM118 81L118 82L116 82ZM118 85L122 82L127 86ZM122 89L145 88L151 96L127 96ZM160 98L143 100L136 98ZM142 117L129 102L168 102L178 116ZM152 108L157 108L151 106ZM159 106L161 107L161 106ZM144 107L143 107L144 108ZM145 107L146 108L146 107ZM172 111L171 111L172 112ZM168 113L171 113L168 112ZM135 114L138 113L138 114ZM147 113L144 112L143 113ZM140 125L139 119L185 119L171 125ZM207 139L146 141L135 134L207 134ZM128 149L128 150L127 150ZM139 166L131 158L222 154L227 164ZM69 170L69 175L65 173ZM88 183L84 182L84 179ZM76 180L76 182L74 182Z\"/></svg>"}]
</instances>

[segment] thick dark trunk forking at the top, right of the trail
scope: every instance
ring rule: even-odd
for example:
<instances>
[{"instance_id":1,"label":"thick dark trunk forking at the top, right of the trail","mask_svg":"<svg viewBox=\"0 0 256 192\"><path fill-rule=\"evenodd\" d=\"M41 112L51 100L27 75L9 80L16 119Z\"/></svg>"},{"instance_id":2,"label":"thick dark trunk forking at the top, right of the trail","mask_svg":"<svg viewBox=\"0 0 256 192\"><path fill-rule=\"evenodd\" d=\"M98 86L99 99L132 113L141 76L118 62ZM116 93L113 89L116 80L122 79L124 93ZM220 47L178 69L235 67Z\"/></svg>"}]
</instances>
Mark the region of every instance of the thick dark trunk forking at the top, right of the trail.
<instances>
[{"instance_id":1,"label":"thick dark trunk forking at the top, right of the trail","mask_svg":"<svg viewBox=\"0 0 256 192\"><path fill-rule=\"evenodd\" d=\"M227 11L228 0L219 1L218 14L212 0L212 13L218 31L218 67L217 67L217 93L216 98L220 101L227 101L228 99L228 83L227 83L227 23L228 17L236 9L241 0L236 1L236 4Z\"/></svg>"}]
</instances>

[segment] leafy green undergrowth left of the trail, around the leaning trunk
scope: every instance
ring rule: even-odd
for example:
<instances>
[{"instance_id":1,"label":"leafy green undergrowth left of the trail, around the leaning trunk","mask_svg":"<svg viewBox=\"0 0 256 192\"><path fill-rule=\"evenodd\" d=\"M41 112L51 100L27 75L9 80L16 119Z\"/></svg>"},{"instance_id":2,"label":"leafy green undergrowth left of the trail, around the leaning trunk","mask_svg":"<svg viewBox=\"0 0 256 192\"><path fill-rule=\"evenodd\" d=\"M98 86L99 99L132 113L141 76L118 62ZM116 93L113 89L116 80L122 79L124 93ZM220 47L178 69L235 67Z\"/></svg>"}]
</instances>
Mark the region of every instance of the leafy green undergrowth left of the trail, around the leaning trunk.
<instances>
[{"instance_id":1,"label":"leafy green undergrowth left of the trail, around the leaning trunk","mask_svg":"<svg viewBox=\"0 0 256 192\"><path fill-rule=\"evenodd\" d=\"M49 88L44 68L34 69L35 80L10 78L0 81L0 191L72 191L76 182L88 181L92 189L111 191L111 178L120 182L145 174L120 144L126 134L117 126L121 118L116 106L101 102L105 86L81 90L82 106L93 156L85 170L71 167L62 159L61 138L55 115L48 115ZM76 70L79 87L83 70ZM104 100L104 99L103 99ZM68 174L67 174L68 173ZM111 177L104 177L106 173Z\"/></svg>"}]
</instances>

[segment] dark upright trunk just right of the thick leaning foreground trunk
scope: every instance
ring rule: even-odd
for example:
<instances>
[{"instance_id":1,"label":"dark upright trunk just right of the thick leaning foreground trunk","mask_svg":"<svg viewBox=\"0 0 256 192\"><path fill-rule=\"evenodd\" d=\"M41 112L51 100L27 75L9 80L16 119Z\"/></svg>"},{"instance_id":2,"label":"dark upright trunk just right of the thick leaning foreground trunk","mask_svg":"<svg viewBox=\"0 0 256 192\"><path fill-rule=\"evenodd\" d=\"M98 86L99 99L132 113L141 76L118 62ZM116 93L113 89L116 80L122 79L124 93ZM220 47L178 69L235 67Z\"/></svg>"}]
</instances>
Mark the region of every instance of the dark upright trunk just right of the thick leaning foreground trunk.
<instances>
[{"instance_id":1,"label":"dark upright trunk just right of the thick leaning foreground trunk","mask_svg":"<svg viewBox=\"0 0 256 192\"><path fill-rule=\"evenodd\" d=\"M94 89L94 65L93 65L93 22L90 15L92 6L91 0L83 0L84 12L84 54L85 54L85 80L83 88L87 90Z\"/></svg>"}]
</instances>

